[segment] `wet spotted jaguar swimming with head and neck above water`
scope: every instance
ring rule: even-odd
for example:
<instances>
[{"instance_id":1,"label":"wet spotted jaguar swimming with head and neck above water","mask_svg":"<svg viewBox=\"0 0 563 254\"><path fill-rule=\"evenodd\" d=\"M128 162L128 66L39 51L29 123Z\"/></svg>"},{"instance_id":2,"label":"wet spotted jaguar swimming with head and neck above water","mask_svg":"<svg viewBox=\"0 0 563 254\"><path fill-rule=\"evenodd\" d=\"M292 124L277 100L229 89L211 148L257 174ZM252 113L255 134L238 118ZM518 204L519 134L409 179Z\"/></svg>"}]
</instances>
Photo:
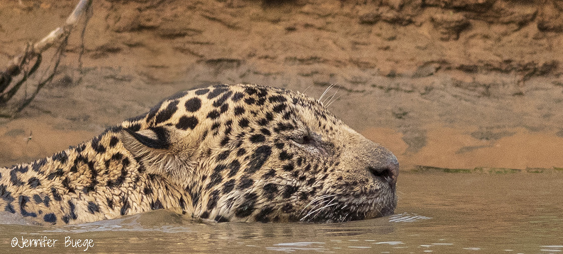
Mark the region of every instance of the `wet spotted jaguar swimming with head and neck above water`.
<instances>
[{"instance_id":1,"label":"wet spotted jaguar swimming with head and neck above water","mask_svg":"<svg viewBox=\"0 0 563 254\"><path fill-rule=\"evenodd\" d=\"M390 215L395 156L319 101L280 88L177 93L91 141L0 168L0 210L78 224L167 209L223 221Z\"/></svg>"}]
</instances>

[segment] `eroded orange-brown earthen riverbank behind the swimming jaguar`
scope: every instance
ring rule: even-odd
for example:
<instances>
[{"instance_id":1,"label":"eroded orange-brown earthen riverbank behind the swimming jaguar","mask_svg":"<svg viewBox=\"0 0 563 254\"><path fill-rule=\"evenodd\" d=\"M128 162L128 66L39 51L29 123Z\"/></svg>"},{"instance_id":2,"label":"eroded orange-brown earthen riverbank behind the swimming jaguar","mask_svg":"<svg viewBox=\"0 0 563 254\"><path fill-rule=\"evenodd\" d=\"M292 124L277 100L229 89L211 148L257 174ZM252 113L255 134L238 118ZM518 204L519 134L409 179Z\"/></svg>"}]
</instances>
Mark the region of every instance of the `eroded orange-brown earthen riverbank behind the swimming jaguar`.
<instances>
[{"instance_id":1,"label":"eroded orange-brown earthen riverbank behind the swimming jaguar","mask_svg":"<svg viewBox=\"0 0 563 254\"><path fill-rule=\"evenodd\" d=\"M0 2L0 63L75 2ZM336 84L330 109L401 170L562 167L562 12L520 0L94 1L83 68L77 30L55 81L0 119L0 165L88 140L176 91L248 82L315 97Z\"/></svg>"}]
</instances>

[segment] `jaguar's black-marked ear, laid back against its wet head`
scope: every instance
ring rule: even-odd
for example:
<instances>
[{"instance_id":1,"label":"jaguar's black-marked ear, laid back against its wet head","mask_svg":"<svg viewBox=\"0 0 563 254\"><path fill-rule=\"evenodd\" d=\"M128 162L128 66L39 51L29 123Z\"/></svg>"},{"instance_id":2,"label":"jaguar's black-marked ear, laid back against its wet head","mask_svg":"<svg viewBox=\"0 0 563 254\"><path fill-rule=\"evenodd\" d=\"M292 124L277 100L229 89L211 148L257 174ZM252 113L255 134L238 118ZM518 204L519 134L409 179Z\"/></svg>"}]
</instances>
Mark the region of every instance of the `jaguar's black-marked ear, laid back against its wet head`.
<instances>
[{"instance_id":1,"label":"jaguar's black-marked ear, laid back against its wet head","mask_svg":"<svg viewBox=\"0 0 563 254\"><path fill-rule=\"evenodd\" d=\"M171 126L150 127L120 133L123 146L140 161L148 173L156 173L184 183L193 175L199 160L199 139Z\"/></svg>"}]
</instances>

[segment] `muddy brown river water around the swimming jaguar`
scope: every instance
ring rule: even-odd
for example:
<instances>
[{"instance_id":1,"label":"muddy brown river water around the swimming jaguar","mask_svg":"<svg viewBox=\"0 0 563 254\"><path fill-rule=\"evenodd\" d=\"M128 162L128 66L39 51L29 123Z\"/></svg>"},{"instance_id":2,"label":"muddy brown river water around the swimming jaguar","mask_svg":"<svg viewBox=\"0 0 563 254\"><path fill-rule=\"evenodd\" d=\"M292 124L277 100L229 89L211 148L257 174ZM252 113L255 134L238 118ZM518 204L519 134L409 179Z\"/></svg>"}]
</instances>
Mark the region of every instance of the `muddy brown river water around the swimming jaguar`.
<instances>
[{"instance_id":1,"label":"muddy brown river water around the swimming jaguar","mask_svg":"<svg viewBox=\"0 0 563 254\"><path fill-rule=\"evenodd\" d=\"M390 217L342 224L199 224L160 210L59 228L4 224L0 225L0 250L2 253L561 253L561 186L563 177L558 172L507 175L407 172L400 175L399 205ZM66 237L92 242L88 242L91 244L84 251L84 246L65 247ZM54 247L29 244L26 247L22 239L57 242Z\"/></svg>"}]
</instances>

